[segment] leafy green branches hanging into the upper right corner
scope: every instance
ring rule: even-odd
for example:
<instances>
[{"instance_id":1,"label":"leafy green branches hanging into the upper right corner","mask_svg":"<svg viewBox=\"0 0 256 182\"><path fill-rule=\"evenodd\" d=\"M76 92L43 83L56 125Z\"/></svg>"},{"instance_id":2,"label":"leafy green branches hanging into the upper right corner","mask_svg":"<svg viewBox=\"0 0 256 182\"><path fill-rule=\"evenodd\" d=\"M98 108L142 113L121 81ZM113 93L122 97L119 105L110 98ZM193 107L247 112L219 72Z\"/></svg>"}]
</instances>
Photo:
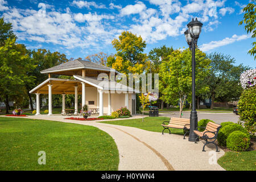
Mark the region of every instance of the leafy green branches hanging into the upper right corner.
<instances>
[{"instance_id":1,"label":"leafy green branches hanging into the upper right corner","mask_svg":"<svg viewBox=\"0 0 256 182\"><path fill-rule=\"evenodd\" d=\"M243 15L243 20L239 22L239 25L242 25L245 23L245 30L247 31L247 34L249 32L252 32L251 38L256 37L256 5L255 0L251 0L251 2L243 8L243 12L245 15ZM250 55L255 55L254 60L256 59L256 42L253 42L253 48L251 48L248 53Z\"/></svg>"}]
</instances>

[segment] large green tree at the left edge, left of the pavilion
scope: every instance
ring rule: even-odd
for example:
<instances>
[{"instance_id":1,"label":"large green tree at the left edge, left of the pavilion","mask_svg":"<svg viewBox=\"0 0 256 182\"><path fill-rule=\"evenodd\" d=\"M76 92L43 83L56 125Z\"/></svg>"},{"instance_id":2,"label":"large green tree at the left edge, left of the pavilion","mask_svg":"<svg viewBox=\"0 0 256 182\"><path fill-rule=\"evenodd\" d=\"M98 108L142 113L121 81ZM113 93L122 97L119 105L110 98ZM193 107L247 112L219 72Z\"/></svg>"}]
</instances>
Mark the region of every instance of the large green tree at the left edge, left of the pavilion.
<instances>
[{"instance_id":1,"label":"large green tree at the left edge, left of the pavilion","mask_svg":"<svg viewBox=\"0 0 256 182\"><path fill-rule=\"evenodd\" d=\"M20 101L17 98L23 98L25 83L35 79L34 76L27 75L27 71L36 66L31 64L26 48L16 44L15 39L8 38L3 45L0 47L0 94L6 98L8 114L10 97L16 97L16 101Z\"/></svg>"}]
</instances>

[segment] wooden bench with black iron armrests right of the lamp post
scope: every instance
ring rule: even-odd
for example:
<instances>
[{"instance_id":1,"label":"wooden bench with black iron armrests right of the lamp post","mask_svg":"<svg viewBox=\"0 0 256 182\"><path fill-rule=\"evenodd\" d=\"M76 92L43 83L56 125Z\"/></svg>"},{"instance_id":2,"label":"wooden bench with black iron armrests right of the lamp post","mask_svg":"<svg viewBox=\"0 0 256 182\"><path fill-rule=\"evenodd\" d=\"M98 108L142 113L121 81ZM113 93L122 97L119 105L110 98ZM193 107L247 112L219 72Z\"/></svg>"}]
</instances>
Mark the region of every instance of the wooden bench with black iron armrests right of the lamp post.
<instances>
[{"instance_id":1,"label":"wooden bench with black iron armrests right of the lamp post","mask_svg":"<svg viewBox=\"0 0 256 182\"><path fill-rule=\"evenodd\" d=\"M199 126L200 127L200 126ZM196 138L196 140L201 137L202 139L205 140L205 144L204 147L209 144L209 143L213 143L216 147L216 152L218 151L218 146L216 145L215 140L217 139L217 135L218 135L218 131L220 131L221 125L218 125L216 123L213 122L208 122L206 127L201 127L204 128L204 131L197 131L197 129L199 128L197 127L196 130L194 130L194 133L198 136ZM212 140L212 141L208 141L208 140ZM197 142L195 142L197 143ZM203 152L205 152L203 147Z\"/></svg>"}]
</instances>

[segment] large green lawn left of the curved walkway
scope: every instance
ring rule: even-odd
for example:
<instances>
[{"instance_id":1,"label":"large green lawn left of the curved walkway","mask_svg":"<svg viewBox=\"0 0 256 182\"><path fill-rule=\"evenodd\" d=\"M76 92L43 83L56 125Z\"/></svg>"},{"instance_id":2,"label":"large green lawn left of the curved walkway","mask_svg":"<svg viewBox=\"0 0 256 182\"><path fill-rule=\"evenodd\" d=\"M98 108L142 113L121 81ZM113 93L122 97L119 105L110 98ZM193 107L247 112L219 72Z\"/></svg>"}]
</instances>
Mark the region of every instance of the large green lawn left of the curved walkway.
<instances>
[{"instance_id":1,"label":"large green lawn left of the curved walkway","mask_svg":"<svg viewBox=\"0 0 256 182\"><path fill-rule=\"evenodd\" d=\"M92 126L0 117L0 170L117 170L112 137ZM46 152L46 165L38 152Z\"/></svg>"}]
</instances>

